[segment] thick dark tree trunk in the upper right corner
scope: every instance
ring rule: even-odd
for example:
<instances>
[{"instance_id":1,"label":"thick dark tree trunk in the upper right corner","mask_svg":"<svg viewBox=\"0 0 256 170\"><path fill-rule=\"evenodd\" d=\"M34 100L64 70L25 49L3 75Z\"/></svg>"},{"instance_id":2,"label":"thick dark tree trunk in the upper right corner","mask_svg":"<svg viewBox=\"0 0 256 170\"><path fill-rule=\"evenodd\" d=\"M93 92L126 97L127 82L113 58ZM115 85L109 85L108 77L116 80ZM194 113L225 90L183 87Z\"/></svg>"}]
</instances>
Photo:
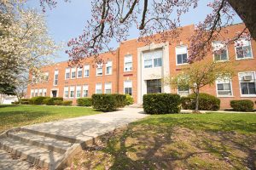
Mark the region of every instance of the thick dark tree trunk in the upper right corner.
<instances>
[{"instance_id":1,"label":"thick dark tree trunk in the upper right corner","mask_svg":"<svg viewBox=\"0 0 256 170\"><path fill-rule=\"evenodd\" d=\"M227 0L256 40L256 0Z\"/></svg>"}]
</instances>

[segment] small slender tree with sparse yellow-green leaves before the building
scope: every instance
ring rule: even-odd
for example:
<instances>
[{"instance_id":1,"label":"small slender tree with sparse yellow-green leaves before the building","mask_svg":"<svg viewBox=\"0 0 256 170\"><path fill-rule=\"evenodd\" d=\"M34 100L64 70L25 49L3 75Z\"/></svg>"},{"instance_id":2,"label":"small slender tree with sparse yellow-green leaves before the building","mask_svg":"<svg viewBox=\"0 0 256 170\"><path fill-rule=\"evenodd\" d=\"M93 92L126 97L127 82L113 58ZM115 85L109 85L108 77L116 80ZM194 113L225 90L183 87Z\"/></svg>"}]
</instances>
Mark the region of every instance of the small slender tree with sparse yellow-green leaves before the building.
<instances>
[{"instance_id":1,"label":"small slender tree with sparse yellow-green leaves before the building","mask_svg":"<svg viewBox=\"0 0 256 170\"><path fill-rule=\"evenodd\" d=\"M172 88L190 88L195 93L195 113L198 111L201 88L212 85L219 79L230 80L235 75L235 64L232 61L218 62L212 59L195 61L183 67L176 77L165 77L163 82Z\"/></svg>"}]
</instances>

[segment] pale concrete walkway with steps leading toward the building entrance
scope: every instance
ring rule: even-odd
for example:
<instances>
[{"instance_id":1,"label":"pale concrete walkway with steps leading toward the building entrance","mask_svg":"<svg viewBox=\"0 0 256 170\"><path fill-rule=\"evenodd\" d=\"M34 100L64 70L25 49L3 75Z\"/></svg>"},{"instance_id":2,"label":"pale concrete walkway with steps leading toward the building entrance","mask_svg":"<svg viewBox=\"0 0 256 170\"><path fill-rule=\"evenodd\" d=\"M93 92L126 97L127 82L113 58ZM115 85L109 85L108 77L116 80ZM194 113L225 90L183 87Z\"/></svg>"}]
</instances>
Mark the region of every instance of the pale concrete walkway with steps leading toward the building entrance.
<instances>
[{"instance_id":1,"label":"pale concrete walkway with steps leading toward the building entrance","mask_svg":"<svg viewBox=\"0 0 256 170\"><path fill-rule=\"evenodd\" d=\"M0 136L0 169L28 169L30 164L21 160L39 167L62 169L93 139L146 116L142 108L123 108L10 130ZM11 155L20 159L12 161Z\"/></svg>"}]
</instances>

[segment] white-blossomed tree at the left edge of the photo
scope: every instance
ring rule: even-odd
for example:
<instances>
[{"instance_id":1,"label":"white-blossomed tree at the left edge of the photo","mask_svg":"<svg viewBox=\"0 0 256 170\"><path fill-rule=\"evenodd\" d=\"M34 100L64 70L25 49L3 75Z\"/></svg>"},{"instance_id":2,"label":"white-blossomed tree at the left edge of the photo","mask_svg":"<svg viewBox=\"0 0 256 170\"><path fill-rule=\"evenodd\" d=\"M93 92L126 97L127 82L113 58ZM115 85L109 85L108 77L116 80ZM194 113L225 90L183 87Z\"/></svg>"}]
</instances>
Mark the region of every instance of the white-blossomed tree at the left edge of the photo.
<instances>
[{"instance_id":1,"label":"white-blossomed tree at the left edge of the photo","mask_svg":"<svg viewBox=\"0 0 256 170\"><path fill-rule=\"evenodd\" d=\"M0 12L0 86L27 81L29 71L38 77L59 48L48 35L44 15L19 3L2 3L1 8L5 10Z\"/></svg>"}]
</instances>

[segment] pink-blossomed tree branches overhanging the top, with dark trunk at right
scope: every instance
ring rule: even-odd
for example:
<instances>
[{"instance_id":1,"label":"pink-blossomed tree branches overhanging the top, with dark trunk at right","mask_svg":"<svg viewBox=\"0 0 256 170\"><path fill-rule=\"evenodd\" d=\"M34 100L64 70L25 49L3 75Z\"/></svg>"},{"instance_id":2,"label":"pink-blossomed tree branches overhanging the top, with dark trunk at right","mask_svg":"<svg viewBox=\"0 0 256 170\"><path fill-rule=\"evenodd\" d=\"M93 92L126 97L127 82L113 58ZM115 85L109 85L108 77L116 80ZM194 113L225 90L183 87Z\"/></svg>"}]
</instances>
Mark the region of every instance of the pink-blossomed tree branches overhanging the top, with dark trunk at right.
<instances>
[{"instance_id":1,"label":"pink-blossomed tree branches overhanging the top, with dark trunk at right","mask_svg":"<svg viewBox=\"0 0 256 170\"><path fill-rule=\"evenodd\" d=\"M67 1L67 0L64 0ZM180 17L190 8L196 8L200 0L100 0L92 1L92 17L87 21L81 36L68 42L72 47L67 50L71 61L79 63L86 56L96 56L108 48L108 43L115 39L124 41L128 36L129 28L137 26L140 31L139 41L166 42L170 38L177 38L177 27L180 26ZM41 6L55 7L56 0L40 0ZM232 23L235 14L247 26L236 37L227 40L234 42L241 35L250 31L256 39L256 1L255 0L212 0L207 4L212 13L197 25L195 35L190 38L191 45L189 62L203 59L209 51L211 42L220 35L224 26ZM247 31L248 30L248 31ZM154 33L160 33L156 37ZM199 55L198 55L199 54Z\"/></svg>"}]
</instances>

